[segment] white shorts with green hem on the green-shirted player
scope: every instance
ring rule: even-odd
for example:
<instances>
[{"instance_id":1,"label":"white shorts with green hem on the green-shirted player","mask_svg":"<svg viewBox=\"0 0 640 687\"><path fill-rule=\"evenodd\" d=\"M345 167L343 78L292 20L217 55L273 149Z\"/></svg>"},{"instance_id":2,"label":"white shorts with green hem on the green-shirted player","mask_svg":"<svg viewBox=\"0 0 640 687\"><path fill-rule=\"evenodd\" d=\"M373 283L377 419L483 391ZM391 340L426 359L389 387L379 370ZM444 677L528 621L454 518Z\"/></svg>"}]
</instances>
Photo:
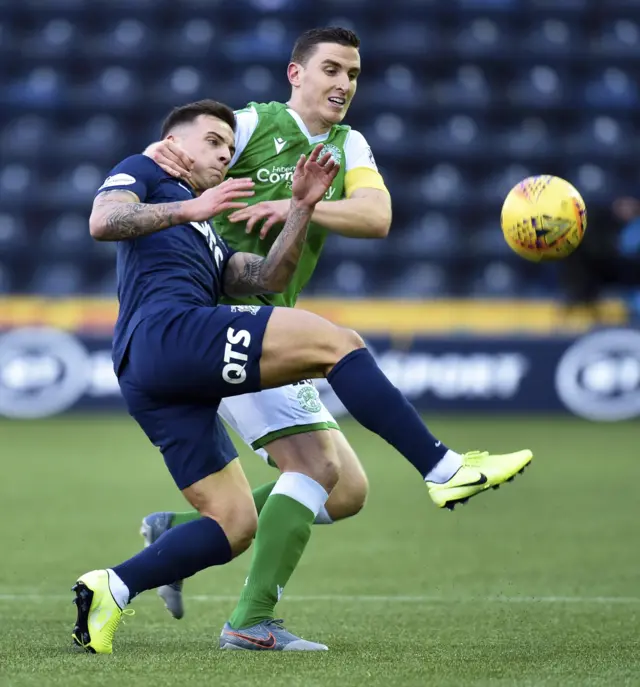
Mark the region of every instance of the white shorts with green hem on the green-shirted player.
<instances>
[{"instance_id":1,"label":"white shorts with green hem on the green-shirted player","mask_svg":"<svg viewBox=\"0 0 640 687\"><path fill-rule=\"evenodd\" d=\"M309 379L224 398L218 413L265 460L269 456L262 447L275 439L317 429L339 429Z\"/></svg>"}]
</instances>

